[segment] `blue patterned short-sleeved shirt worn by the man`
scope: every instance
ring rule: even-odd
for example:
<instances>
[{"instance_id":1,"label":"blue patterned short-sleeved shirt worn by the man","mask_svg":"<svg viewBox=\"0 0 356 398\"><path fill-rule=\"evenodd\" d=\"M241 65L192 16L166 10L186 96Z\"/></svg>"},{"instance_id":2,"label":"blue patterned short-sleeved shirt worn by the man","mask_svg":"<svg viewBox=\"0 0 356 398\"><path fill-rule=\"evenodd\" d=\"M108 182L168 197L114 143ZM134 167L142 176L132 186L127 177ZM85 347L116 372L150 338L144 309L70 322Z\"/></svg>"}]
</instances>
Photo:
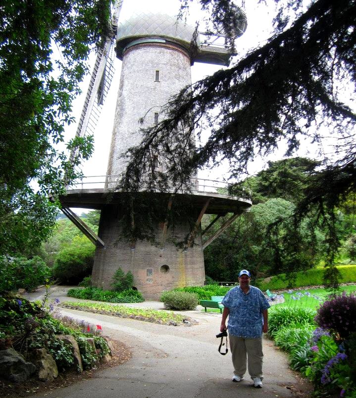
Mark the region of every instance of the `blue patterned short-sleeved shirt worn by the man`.
<instances>
[{"instance_id":1,"label":"blue patterned short-sleeved shirt worn by the man","mask_svg":"<svg viewBox=\"0 0 356 398\"><path fill-rule=\"evenodd\" d=\"M240 286L233 287L221 304L229 309L229 334L244 338L262 336L262 311L270 307L266 297L257 287L250 286L247 294Z\"/></svg>"}]
</instances>

